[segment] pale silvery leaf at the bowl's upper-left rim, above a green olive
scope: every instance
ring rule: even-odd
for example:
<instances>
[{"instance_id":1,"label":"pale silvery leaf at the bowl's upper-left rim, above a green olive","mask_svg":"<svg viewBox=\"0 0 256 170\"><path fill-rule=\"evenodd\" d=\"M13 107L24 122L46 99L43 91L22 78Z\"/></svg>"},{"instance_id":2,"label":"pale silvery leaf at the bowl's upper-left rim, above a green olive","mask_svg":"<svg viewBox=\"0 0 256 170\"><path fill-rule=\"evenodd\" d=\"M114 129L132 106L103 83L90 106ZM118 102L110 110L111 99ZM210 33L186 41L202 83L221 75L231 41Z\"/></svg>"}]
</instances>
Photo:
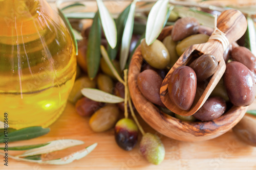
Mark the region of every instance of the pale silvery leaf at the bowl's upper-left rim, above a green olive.
<instances>
[{"instance_id":1,"label":"pale silvery leaf at the bowl's upper-left rim, above a green olive","mask_svg":"<svg viewBox=\"0 0 256 170\"><path fill-rule=\"evenodd\" d=\"M151 9L146 23L145 39L147 45L152 44L161 33L166 21L168 3L168 0L157 1Z\"/></svg>"}]
</instances>

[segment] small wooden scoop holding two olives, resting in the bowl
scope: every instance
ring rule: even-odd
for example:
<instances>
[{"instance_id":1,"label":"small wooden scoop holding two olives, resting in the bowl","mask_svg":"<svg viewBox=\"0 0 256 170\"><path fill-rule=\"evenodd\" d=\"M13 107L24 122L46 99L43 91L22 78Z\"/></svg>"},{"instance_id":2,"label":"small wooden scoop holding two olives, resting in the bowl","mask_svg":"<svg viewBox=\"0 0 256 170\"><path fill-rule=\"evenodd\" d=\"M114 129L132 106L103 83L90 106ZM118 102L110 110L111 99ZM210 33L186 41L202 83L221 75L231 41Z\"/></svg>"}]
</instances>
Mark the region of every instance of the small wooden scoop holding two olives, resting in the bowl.
<instances>
[{"instance_id":1,"label":"small wooden scoop holding two olives, resting in the bowl","mask_svg":"<svg viewBox=\"0 0 256 170\"><path fill-rule=\"evenodd\" d=\"M226 38L230 44L234 41L237 41L244 35L247 29L247 21L245 16L240 11L230 9L221 13L217 20L217 28L226 34ZM169 70L168 74L163 80L162 86L160 88L160 97L163 104L172 112L183 116L193 115L198 109L200 109L225 72L226 64L223 59L224 50L225 49L223 49L221 41L216 39L209 39L206 43L191 45L189 48L187 48L187 50L180 56L180 58ZM172 100L170 100L168 95L168 83L174 70L181 65L186 65L189 63L189 60L193 59L192 56L194 54L214 55L219 62L219 65L209 82L197 83L197 92L194 103L189 111L185 111L178 108L172 102Z\"/></svg>"}]
</instances>

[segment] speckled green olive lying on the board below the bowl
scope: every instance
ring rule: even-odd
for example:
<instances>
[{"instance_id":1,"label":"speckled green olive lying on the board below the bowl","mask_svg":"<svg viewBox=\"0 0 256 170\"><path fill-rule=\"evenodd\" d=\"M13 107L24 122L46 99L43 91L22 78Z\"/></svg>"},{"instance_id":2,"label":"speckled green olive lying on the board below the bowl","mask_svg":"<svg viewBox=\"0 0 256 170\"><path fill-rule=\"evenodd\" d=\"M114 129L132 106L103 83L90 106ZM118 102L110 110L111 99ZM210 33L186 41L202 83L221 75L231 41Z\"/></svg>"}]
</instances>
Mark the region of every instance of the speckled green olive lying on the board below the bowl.
<instances>
[{"instance_id":1,"label":"speckled green olive lying on the board below the bowl","mask_svg":"<svg viewBox=\"0 0 256 170\"><path fill-rule=\"evenodd\" d=\"M160 164L165 157L165 149L157 135L146 133L140 141L140 152L146 160L155 165Z\"/></svg>"}]
</instances>

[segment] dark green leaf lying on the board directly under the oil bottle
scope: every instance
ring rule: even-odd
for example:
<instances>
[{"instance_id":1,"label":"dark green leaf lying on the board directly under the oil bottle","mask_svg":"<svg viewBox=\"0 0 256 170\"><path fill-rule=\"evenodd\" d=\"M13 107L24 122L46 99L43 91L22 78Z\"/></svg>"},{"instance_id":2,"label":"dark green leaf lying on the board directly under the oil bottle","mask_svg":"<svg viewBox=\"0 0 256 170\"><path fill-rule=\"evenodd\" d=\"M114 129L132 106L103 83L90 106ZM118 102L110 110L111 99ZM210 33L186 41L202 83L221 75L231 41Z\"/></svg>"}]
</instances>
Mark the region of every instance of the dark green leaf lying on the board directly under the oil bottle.
<instances>
[{"instance_id":1,"label":"dark green leaf lying on the board directly under the oil bottle","mask_svg":"<svg viewBox=\"0 0 256 170\"><path fill-rule=\"evenodd\" d=\"M0 136L0 143L4 142L8 137L8 142L19 141L19 140L28 140L32 138L36 138L42 135L45 135L50 132L50 128L42 128L42 127L29 127L16 130L14 132L8 133Z\"/></svg>"}]
</instances>

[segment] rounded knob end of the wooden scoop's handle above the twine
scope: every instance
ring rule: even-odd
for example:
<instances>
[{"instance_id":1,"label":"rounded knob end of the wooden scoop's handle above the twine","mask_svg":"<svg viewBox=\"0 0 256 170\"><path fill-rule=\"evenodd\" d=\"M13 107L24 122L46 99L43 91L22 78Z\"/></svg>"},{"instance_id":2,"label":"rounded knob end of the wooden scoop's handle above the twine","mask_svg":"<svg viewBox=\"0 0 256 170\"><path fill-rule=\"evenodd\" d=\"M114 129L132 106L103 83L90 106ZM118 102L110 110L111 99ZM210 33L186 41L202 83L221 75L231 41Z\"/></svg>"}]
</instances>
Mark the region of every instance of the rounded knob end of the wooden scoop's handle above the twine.
<instances>
[{"instance_id":1,"label":"rounded knob end of the wooden scoop's handle above the twine","mask_svg":"<svg viewBox=\"0 0 256 170\"><path fill-rule=\"evenodd\" d=\"M229 43L232 43L244 35L247 20L239 10L229 9L218 17L217 28L225 33Z\"/></svg>"}]
</instances>

